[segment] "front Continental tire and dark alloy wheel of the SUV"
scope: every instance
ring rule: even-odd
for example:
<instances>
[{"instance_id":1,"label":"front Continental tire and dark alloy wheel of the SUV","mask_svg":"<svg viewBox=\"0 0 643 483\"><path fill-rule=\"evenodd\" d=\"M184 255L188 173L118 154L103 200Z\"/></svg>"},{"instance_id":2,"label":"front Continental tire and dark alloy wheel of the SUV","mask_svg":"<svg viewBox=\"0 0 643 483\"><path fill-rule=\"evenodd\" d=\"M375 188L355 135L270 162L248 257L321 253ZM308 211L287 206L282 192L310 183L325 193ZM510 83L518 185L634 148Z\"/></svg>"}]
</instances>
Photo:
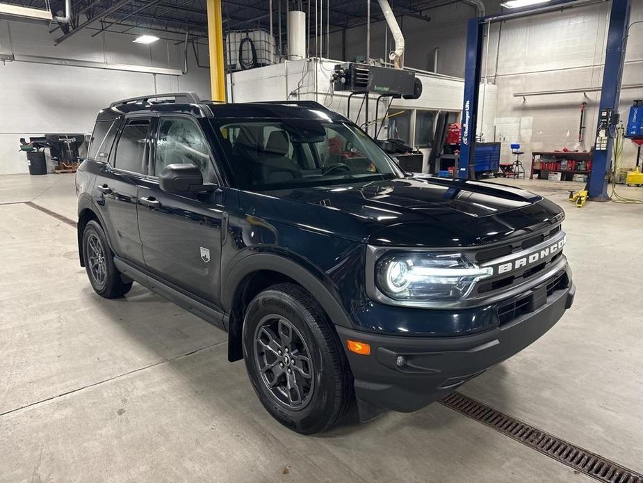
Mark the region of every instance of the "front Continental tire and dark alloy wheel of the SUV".
<instances>
[{"instance_id":1,"label":"front Continental tire and dark alloy wheel of the SUV","mask_svg":"<svg viewBox=\"0 0 643 483\"><path fill-rule=\"evenodd\" d=\"M348 360L331 322L293 283L274 285L252 299L243 321L243 358L263 407L300 434L329 429L354 399Z\"/></svg>"}]
</instances>

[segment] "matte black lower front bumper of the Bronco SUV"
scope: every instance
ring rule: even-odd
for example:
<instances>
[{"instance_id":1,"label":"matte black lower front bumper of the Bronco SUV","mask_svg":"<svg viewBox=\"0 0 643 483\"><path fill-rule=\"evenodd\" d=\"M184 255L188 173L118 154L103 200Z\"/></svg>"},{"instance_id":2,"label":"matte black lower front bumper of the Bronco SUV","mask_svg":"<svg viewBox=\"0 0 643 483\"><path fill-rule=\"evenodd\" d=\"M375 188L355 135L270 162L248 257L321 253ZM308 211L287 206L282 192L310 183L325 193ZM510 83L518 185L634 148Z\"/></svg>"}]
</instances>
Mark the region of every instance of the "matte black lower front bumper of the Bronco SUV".
<instances>
[{"instance_id":1,"label":"matte black lower front bumper of the Bronco SUV","mask_svg":"<svg viewBox=\"0 0 643 483\"><path fill-rule=\"evenodd\" d=\"M473 335L396 337L336 326L344 347L347 339L371 345L370 356L346 350L361 418L369 419L382 408L416 411L448 395L546 333L571 307L575 292L570 282L532 312ZM406 360L402 367L396 364L398 356Z\"/></svg>"}]
</instances>

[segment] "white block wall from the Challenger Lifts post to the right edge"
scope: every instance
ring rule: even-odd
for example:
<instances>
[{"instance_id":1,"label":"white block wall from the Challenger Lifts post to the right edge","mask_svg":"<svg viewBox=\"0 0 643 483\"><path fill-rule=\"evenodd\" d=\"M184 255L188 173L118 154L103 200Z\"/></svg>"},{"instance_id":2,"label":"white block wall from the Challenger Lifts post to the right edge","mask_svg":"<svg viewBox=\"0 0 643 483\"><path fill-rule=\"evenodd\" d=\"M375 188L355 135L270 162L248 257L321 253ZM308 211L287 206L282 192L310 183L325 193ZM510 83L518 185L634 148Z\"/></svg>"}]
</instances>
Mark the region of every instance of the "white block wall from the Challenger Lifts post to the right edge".
<instances>
[{"instance_id":1,"label":"white block wall from the Challenger Lifts post to the right edge","mask_svg":"<svg viewBox=\"0 0 643 483\"><path fill-rule=\"evenodd\" d=\"M601 87L611 2L564 10L491 26L489 81L498 86L496 132L508 156L510 143L521 150L589 150L594 145L600 92L514 97L514 93ZM630 22L643 19L643 2L633 2ZM498 53L496 75L496 52ZM483 66L482 72L485 72ZM643 24L633 26L626 51L623 84L643 79ZM643 98L643 89L621 90L621 119ZM578 141L580 104L586 101L585 132ZM636 149L624 145L621 166L634 166Z\"/></svg>"}]
</instances>

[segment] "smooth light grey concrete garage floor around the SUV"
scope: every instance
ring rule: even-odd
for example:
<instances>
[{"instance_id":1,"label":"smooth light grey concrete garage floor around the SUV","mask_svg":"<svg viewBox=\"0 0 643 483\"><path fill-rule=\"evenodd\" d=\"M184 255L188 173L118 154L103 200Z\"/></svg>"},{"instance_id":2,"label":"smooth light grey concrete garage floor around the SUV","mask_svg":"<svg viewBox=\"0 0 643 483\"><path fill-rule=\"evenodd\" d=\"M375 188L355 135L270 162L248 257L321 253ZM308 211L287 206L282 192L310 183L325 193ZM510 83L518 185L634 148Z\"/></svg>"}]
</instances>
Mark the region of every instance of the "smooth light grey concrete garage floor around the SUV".
<instances>
[{"instance_id":1,"label":"smooth light grey concrete garage floor around the SUV","mask_svg":"<svg viewBox=\"0 0 643 483\"><path fill-rule=\"evenodd\" d=\"M512 183L566 209L576 303L462 393L641 472L643 206L576 209L577 184ZM441 404L288 431L225 333L140 285L101 299L74 228L25 201L76 219L74 176L0 177L1 482L591 481Z\"/></svg>"}]
</instances>

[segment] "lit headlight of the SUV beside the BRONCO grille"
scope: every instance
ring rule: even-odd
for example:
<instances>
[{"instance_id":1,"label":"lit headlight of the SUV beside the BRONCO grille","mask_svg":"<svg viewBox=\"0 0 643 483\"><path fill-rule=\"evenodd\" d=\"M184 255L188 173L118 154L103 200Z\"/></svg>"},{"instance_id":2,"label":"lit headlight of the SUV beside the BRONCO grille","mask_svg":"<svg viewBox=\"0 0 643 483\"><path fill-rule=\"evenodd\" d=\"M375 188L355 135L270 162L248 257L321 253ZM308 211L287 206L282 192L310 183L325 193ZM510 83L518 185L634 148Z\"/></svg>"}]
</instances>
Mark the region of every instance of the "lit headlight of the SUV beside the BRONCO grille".
<instances>
[{"instance_id":1,"label":"lit headlight of the SUV beside the BRONCO grille","mask_svg":"<svg viewBox=\"0 0 643 483\"><path fill-rule=\"evenodd\" d=\"M473 284L491 276L462 253L384 255L375 266L377 287L396 300L454 301L471 292Z\"/></svg>"}]
</instances>

